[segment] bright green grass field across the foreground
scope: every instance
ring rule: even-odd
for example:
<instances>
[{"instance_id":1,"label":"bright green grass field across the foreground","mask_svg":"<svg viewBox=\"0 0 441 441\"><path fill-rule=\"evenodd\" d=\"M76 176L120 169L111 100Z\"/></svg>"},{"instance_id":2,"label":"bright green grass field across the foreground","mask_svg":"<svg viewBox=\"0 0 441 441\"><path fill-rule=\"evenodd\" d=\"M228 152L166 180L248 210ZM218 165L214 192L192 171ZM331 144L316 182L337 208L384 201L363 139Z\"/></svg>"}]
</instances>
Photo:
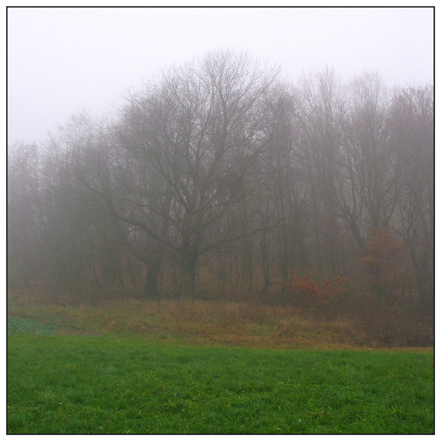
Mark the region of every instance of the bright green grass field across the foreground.
<instances>
[{"instance_id":1,"label":"bright green grass field across the foreground","mask_svg":"<svg viewBox=\"0 0 441 441\"><path fill-rule=\"evenodd\" d=\"M16 319L9 329L10 434L434 433L433 350L189 346L50 335Z\"/></svg>"}]
</instances>

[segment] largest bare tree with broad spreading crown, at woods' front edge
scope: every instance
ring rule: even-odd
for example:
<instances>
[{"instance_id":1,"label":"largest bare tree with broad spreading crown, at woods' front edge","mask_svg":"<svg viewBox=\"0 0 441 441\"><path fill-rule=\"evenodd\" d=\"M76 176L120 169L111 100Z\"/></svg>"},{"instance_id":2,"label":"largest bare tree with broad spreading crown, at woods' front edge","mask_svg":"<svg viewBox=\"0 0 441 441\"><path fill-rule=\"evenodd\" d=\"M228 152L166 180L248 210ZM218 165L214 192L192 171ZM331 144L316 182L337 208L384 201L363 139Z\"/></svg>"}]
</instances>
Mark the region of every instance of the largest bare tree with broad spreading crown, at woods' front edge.
<instances>
[{"instance_id":1,"label":"largest bare tree with broad spreading crown, at woods' front edge","mask_svg":"<svg viewBox=\"0 0 441 441\"><path fill-rule=\"evenodd\" d=\"M130 208L120 218L175 254L182 295L195 293L198 257L229 238L207 232L244 196L240 184L266 141L265 96L277 75L245 52L219 51L129 97L120 148L134 163L121 180Z\"/></svg>"}]
</instances>

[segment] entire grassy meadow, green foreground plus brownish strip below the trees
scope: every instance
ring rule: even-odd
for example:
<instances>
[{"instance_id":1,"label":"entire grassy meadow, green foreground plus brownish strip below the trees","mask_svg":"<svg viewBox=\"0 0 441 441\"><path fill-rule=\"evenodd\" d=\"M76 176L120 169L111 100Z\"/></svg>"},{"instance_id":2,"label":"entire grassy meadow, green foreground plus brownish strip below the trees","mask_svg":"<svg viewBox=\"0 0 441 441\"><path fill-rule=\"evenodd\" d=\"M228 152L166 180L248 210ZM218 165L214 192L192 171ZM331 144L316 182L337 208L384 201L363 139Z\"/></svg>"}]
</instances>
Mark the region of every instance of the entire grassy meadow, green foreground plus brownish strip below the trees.
<instances>
[{"instance_id":1,"label":"entire grassy meadow, green foreground plus brownish strip below the trees","mask_svg":"<svg viewBox=\"0 0 441 441\"><path fill-rule=\"evenodd\" d=\"M8 314L10 434L434 433L433 348L356 344L349 322L13 296Z\"/></svg>"}]
</instances>

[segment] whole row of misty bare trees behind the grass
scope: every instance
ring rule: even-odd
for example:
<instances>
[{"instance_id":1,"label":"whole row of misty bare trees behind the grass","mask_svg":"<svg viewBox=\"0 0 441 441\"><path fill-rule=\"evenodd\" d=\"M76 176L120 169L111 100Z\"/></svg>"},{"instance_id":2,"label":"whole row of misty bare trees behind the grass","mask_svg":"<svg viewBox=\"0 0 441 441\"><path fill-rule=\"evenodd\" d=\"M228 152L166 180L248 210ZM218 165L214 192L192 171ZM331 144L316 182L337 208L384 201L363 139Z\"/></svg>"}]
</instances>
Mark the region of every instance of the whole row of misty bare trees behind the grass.
<instances>
[{"instance_id":1,"label":"whole row of misty bare trees behind the grass","mask_svg":"<svg viewBox=\"0 0 441 441\"><path fill-rule=\"evenodd\" d=\"M433 118L431 85L208 53L8 147L8 282L265 295L293 271L432 305Z\"/></svg>"}]
</instances>

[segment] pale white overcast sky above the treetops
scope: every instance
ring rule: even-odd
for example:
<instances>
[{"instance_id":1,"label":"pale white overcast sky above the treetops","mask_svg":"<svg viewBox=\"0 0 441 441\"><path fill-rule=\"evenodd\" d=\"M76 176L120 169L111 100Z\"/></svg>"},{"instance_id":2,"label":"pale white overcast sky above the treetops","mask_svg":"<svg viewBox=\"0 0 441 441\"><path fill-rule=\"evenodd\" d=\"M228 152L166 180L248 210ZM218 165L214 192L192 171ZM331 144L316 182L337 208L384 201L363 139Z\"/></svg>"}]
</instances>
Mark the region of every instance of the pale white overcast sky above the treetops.
<instances>
[{"instance_id":1,"label":"pale white overcast sky above the treetops","mask_svg":"<svg viewBox=\"0 0 441 441\"><path fill-rule=\"evenodd\" d=\"M9 8L8 142L44 141L82 108L100 116L125 87L212 49L246 49L344 80L433 83L432 8Z\"/></svg>"}]
</instances>

